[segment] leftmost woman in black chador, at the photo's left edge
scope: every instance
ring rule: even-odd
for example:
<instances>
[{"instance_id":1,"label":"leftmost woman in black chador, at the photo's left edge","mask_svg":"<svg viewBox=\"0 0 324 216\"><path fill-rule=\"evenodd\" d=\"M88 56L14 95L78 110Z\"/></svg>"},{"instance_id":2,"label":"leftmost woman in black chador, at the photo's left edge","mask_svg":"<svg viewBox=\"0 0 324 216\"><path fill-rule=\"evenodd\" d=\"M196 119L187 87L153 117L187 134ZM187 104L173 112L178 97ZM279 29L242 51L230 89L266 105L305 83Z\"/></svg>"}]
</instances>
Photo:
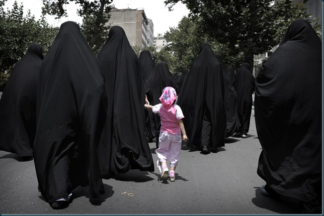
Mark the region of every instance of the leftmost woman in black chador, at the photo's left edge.
<instances>
[{"instance_id":1,"label":"leftmost woman in black chador, at the photo's left edge","mask_svg":"<svg viewBox=\"0 0 324 216\"><path fill-rule=\"evenodd\" d=\"M33 156L36 134L36 92L43 48L31 44L14 66L0 100L0 150Z\"/></svg>"}]
</instances>

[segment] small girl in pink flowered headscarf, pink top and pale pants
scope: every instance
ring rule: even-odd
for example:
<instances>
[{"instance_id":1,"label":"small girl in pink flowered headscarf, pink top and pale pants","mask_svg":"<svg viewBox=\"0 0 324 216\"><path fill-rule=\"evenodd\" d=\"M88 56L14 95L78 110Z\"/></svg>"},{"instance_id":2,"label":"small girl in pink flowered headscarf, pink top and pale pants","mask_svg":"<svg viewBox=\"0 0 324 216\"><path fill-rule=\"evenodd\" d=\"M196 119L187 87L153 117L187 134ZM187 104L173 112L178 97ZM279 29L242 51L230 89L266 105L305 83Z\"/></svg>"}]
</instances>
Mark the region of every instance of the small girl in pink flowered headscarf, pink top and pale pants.
<instances>
[{"instance_id":1,"label":"small girl in pink flowered headscarf, pink top and pale pants","mask_svg":"<svg viewBox=\"0 0 324 216\"><path fill-rule=\"evenodd\" d=\"M158 157L157 167L161 173L161 180L175 181L175 171L179 162L181 143L187 141L184 118L180 106L176 103L177 93L173 87L165 87L160 96L161 103L154 106L145 104L146 109L152 109L154 114L158 113L161 119L161 129L158 138L158 149L155 150ZM182 138L181 138L182 134ZM170 161L170 173L167 161Z\"/></svg>"}]
</instances>

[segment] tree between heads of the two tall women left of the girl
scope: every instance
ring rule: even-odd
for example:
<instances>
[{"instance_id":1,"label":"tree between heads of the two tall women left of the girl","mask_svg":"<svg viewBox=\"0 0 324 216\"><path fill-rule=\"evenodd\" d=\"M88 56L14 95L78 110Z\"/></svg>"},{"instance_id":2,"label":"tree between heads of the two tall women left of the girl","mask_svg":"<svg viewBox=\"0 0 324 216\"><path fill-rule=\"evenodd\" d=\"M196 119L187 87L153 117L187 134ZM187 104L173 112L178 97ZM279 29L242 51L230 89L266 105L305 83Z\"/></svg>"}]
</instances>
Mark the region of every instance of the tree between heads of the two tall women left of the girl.
<instances>
[{"instance_id":1,"label":"tree between heads of the two tall women left of the girl","mask_svg":"<svg viewBox=\"0 0 324 216\"><path fill-rule=\"evenodd\" d=\"M80 6L77 14L83 17L80 26L82 33L93 51L98 54L108 36L109 26L106 23L110 19L113 0L43 0L43 15L54 15L56 18L66 17L64 5L75 3Z\"/></svg>"}]
</instances>

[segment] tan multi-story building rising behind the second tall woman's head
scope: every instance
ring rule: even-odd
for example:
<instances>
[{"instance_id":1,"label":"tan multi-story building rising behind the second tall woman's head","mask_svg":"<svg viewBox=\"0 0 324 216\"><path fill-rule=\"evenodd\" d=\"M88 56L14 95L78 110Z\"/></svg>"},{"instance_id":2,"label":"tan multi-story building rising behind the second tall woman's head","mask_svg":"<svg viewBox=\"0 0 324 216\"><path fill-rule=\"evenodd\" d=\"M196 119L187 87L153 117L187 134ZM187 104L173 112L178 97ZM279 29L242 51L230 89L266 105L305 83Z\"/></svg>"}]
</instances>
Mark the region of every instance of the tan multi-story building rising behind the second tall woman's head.
<instances>
[{"instance_id":1,"label":"tan multi-story building rising behind the second tall woman's head","mask_svg":"<svg viewBox=\"0 0 324 216\"><path fill-rule=\"evenodd\" d=\"M153 46L153 22L146 18L143 8L113 8L110 14L107 25L122 27L131 46Z\"/></svg>"}]
</instances>

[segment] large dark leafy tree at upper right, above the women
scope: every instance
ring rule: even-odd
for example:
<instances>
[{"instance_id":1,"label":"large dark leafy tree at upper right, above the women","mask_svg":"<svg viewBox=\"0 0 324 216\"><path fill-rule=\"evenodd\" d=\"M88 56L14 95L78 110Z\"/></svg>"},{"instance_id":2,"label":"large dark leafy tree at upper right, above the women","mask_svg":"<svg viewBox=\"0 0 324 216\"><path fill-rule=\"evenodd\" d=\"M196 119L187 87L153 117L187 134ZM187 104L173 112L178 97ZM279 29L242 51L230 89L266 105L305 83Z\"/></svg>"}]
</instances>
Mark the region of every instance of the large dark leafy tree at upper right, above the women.
<instances>
[{"instance_id":1,"label":"large dark leafy tree at upper right, above the women","mask_svg":"<svg viewBox=\"0 0 324 216\"><path fill-rule=\"evenodd\" d=\"M280 7L286 6L280 9L272 6L272 0L167 0L165 4L172 10L178 2L190 10L189 18L200 32L227 47L234 60L230 64L235 68L248 62L252 70L255 54L279 44L278 38L284 32L279 26L286 26L283 21L305 18L305 9L292 7L291 0L278 2ZM286 17L282 18L283 15Z\"/></svg>"}]
</instances>

